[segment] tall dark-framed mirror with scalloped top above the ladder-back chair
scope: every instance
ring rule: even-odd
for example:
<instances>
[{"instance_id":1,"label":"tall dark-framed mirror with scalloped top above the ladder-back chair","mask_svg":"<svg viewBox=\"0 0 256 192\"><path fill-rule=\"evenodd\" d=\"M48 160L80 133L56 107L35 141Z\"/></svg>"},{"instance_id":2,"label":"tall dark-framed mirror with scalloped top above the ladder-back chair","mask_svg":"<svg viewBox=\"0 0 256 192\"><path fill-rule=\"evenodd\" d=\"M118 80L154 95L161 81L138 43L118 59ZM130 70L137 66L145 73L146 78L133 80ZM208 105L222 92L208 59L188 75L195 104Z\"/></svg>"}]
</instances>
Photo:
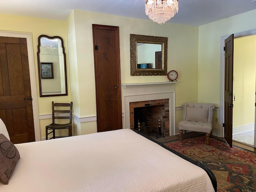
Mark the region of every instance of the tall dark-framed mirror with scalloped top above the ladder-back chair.
<instances>
[{"instance_id":1,"label":"tall dark-framed mirror with scalloped top above the ladder-back chair","mask_svg":"<svg viewBox=\"0 0 256 192\"><path fill-rule=\"evenodd\" d=\"M68 95L63 39L40 35L37 48L40 97Z\"/></svg>"}]
</instances>

